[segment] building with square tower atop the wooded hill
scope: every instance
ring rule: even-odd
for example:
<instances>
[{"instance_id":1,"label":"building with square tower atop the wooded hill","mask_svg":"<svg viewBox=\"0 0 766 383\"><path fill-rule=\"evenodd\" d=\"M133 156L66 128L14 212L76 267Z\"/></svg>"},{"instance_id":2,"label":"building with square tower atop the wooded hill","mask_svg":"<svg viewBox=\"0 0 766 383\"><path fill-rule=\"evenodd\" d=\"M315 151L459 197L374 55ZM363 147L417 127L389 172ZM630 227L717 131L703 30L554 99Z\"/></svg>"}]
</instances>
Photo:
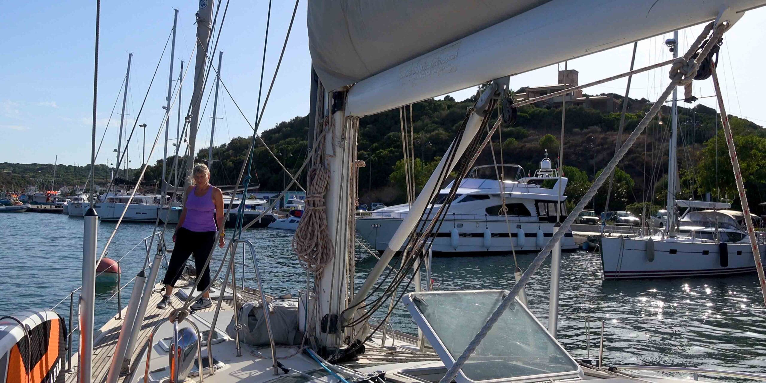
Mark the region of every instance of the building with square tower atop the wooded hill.
<instances>
[{"instance_id":1,"label":"building with square tower atop the wooded hill","mask_svg":"<svg viewBox=\"0 0 766 383\"><path fill-rule=\"evenodd\" d=\"M514 95L514 101L519 102L523 100L529 100L535 97L545 96L546 94L558 92L559 90L565 90L565 88L568 87L577 87L578 74L579 72L574 69L559 70L558 83L554 85L528 87L526 88L525 93L516 93ZM582 90L575 90L569 94L549 98L548 100L538 101L535 103L535 106L541 108L560 108L561 103L564 101L566 101L568 106L584 106L586 108L601 111L602 113L620 111L620 100L615 99L614 96L588 96L583 95Z\"/></svg>"}]
</instances>

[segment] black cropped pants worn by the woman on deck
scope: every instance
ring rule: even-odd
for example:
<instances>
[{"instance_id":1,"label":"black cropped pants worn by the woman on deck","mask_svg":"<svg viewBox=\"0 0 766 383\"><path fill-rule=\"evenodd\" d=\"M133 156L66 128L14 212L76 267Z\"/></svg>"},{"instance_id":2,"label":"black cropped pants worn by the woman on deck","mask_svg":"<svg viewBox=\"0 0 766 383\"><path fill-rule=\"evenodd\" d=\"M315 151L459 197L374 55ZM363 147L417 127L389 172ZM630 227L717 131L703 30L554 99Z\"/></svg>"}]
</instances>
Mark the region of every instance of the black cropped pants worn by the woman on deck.
<instances>
[{"instance_id":1,"label":"black cropped pants worn by the woman on deck","mask_svg":"<svg viewBox=\"0 0 766 383\"><path fill-rule=\"evenodd\" d=\"M175 236L175 247L170 256L168 270L165 270L165 279L162 283L175 286L175 282L181 277L186 260L191 254L194 254L194 263L197 269L197 277L200 282L197 285L197 291L203 291L210 285L210 265L205 267L205 260L215 245L215 231L191 231L186 228L178 228Z\"/></svg>"}]
</instances>

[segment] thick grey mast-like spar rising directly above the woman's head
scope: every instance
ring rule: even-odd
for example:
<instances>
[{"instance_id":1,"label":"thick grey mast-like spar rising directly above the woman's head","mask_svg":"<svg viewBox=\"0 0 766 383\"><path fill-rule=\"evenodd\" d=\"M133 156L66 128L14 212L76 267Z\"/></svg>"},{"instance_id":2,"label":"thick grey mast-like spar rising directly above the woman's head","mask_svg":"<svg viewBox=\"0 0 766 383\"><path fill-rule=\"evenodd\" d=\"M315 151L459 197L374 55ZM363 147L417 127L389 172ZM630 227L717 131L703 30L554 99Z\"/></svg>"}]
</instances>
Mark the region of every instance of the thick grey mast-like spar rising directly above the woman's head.
<instances>
[{"instance_id":1,"label":"thick grey mast-like spar rising directly above the woman's head","mask_svg":"<svg viewBox=\"0 0 766 383\"><path fill-rule=\"evenodd\" d=\"M194 169L199 107L202 103L202 92L205 90L205 63L207 63L208 56L208 40L210 40L213 4L214 0L199 2L199 11L197 11L197 57L194 67L194 90L191 91L191 123L189 124L188 139L189 159L186 161L187 179L191 179L191 171Z\"/></svg>"}]
</instances>

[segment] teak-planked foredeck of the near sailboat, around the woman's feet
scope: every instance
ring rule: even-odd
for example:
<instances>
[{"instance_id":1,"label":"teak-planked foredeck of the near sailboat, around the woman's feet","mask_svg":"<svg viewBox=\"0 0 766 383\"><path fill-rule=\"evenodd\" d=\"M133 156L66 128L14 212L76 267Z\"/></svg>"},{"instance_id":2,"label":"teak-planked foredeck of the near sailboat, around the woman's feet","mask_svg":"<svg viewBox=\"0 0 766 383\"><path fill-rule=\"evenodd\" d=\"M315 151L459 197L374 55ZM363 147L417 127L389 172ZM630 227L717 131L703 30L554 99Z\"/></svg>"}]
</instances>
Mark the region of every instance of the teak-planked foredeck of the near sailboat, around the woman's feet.
<instances>
[{"instance_id":1,"label":"teak-planked foredeck of the near sailboat, around the woman's feet","mask_svg":"<svg viewBox=\"0 0 766 383\"><path fill-rule=\"evenodd\" d=\"M157 284L155 286L155 290L161 287L162 285ZM175 291L178 292L184 287L186 286L179 286L175 289ZM219 288L220 286L216 287ZM249 291L252 292L253 290ZM237 294L239 294L239 296L241 296L244 301L260 300L260 296L256 296L254 293L248 293L247 291L237 290ZM149 306L146 307L146 316L144 316L142 319L142 326L141 331L139 332L138 342L136 343L136 348L133 349L133 355L131 355L132 357L130 360L133 362L133 368L131 369L134 369L139 362L139 355L142 355L143 349L146 348L146 343L149 341L149 333L152 332L152 329L154 329L154 327L157 326L159 322L167 319L168 314L172 309L181 307L183 305L182 300L180 300L178 296L175 296L174 294L168 308L158 309L156 306L160 299L162 299L162 294L160 293L153 293L149 299ZM215 302L215 300L213 300L213 302ZM221 308L232 309L233 306L234 301L230 299L224 300ZM125 316L126 309L123 309L123 318ZM213 304L211 307L208 307L207 309L201 309L196 312L205 313L212 312L214 310L215 304ZM109 322L106 322L106 324L94 334L93 360L91 362L94 383L102 383L103 381L106 381L106 374L109 372L109 365L112 362L112 356L114 354L114 350L117 345L117 339L119 338L119 332L122 329L122 326L123 319L117 319L115 317L110 319ZM72 355L72 368L70 371L67 371L65 380L66 383L77 383L77 355L78 354L76 353ZM122 379L123 378L120 378L118 381L122 381Z\"/></svg>"}]
</instances>

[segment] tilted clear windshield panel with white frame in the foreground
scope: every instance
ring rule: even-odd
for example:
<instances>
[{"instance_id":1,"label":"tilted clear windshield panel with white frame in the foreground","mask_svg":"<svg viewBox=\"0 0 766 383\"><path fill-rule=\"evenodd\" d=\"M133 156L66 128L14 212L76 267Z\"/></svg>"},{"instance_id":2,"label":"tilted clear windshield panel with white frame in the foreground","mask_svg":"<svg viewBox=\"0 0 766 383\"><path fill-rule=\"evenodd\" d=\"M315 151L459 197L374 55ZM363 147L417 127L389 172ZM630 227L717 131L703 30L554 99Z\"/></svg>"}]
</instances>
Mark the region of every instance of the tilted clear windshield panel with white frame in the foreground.
<instances>
[{"instance_id":1,"label":"tilted clear windshield panel with white frame in the foreground","mask_svg":"<svg viewBox=\"0 0 766 383\"><path fill-rule=\"evenodd\" d=\"M405 296L405 303L442 362L449 366L505 295L502 290L410 293ZM461 370L462 375L456 378L459 383L575 374L579 367L532 313L516 301L489 330Z\"/></svg>"}]
</instances>

